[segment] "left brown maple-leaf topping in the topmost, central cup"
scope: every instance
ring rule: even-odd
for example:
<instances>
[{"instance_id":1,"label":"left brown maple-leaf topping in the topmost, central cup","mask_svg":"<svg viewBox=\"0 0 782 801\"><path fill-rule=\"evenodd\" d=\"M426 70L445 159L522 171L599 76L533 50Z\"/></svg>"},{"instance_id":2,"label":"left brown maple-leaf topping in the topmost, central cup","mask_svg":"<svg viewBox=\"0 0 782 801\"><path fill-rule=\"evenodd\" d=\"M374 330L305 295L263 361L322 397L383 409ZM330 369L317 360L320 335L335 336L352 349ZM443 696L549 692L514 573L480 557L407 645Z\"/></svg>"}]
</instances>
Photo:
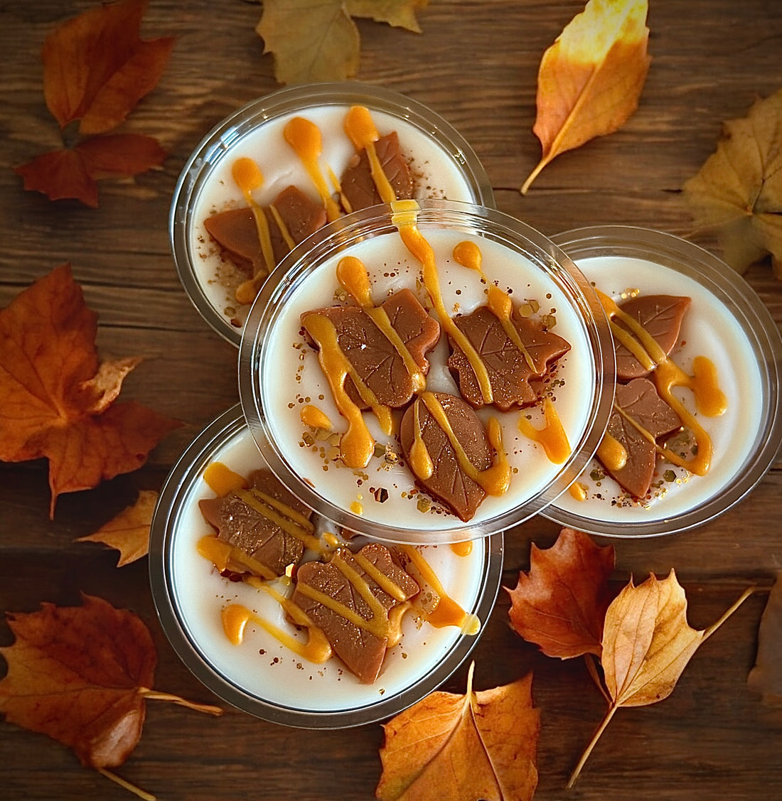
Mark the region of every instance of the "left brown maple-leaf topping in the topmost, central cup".
<instances>
[{"instance_id":1,"label":"left brown maple-leaf topping in the topmost, central cup","mask_svg":"<svg viewBox=\"0 0 782 801\"><path fill-rule=\"evenodd\" d=\"M421 302L406 288L395 292L381 308L413 361L426 374L429 361L425 354L437 344L440 324L426 313ZM331 320L337 329L337 344L341 351L380 404L400 409L409 402L413 397L413 379L405 360L363 309L358 306L330 306L305 312L302 317L312 313ZM346 388L353 401L365 408L351 380L346 382Z\"/></svg>"}]
</instances>

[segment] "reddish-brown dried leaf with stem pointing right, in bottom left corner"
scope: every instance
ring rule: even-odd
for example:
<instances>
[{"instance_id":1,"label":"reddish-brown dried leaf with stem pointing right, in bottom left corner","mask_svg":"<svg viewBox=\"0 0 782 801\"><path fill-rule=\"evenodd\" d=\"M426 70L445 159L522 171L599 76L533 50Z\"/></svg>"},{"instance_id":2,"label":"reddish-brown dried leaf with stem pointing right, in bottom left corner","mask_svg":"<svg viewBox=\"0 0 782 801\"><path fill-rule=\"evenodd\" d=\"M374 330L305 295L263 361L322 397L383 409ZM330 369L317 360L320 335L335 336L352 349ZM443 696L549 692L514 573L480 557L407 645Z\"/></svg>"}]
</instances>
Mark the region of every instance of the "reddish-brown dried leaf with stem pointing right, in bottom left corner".
<instances>
[{"instance_id":1,"label":"reddish-brown dried leaf with stem pointing right, in bottom left corner","mask_svg":"<svg viewBox=\"0 0 782 801\"><path fill-rule=\"evenodd\" d=\"M44 603L38 612L6 616L16 639L0 648L8 662L0 712L71 748L83 765L116 767L127 759L141 736L146 698L221 714L150 690L157 655L147 626L102 598L84 595L83 606Z\"/></svg>"}]
</instances>

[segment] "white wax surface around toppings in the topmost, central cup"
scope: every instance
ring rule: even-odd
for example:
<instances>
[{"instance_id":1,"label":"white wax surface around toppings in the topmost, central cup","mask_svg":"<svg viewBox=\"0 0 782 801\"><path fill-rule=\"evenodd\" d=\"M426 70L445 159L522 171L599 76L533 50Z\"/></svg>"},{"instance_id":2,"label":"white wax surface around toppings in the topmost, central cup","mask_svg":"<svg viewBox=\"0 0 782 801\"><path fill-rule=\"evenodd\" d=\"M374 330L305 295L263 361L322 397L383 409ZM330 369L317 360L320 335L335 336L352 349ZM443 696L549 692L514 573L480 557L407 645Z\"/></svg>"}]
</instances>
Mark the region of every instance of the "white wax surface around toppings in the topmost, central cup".
<instances>
[{"instance_id":1,"label":"white wax surface around toppings in the topmost, central cup","mask_svg":"<svg viewBox=\"0 0 782 801\"><path fill-rule=\"evenodd\" d=\"M504 244L474 233L436 227L425 227L422 233L437 257L441 291L450 316L457 310L469 314L478 304L486 304L486 287L479 273L457 264L452 257L453 247L466 239L472 239L481 249L487 280L498 282L503 290L512 289L512 296L520 303L537 300L540 315L553 310L556 316L553 330L571 346L557 368L556 376L563 384L554 392L555 408L570 444L576 445L585 432L591 411L595 360L582 317L575 311L572 300L548 274ZM300 315L335 303L334 292L339 288L335 272L337 262L348 253L360 258L368 269L375 304L381 304L391 292L407 287L419 296L425 308L430 306L421 287L421 265L410 255L396 231L351 245L320 264L286 297L264 339L259 384L272 439L292 473L302 477L320 497L345 512L350 512L355 503L361 504L360 520L392 523L405 529L453 529L461 525L460 521L442 505L436 504L425 511L419 509L417 497L410 495L415 488L413 475L405 465L389 469L382 458L373 457L366 469L353 470L346 468L339 459L329 458L328 454L324 458L320 447L309 447L303 440L304 433L309 430L300 420L304 403L322 409L335 431L341 433L347 428L333 402L316 352L304 344L300 335ZM436 316L434 312L433 316ZM458 387L445 367L447 356L447 337L441 336L436 350L429 354L431 369L427 389L458 394ZM542 426L542 414L537 408L505 413L491 408L478 412L485 425L489 417L500 421L513 473L509 491L499 497L486 497L471 523L480 524L524 504L545 489L562 469L562 465L549 461L540 445L519 433L520 414L532 414L534 425ZM371 413L365 413L365 420L378 443L387 444L395 453L400 453L393 433L383 434ZM371 492L380 487L389 493L382 503L375 501Z\"/></svg>"}]
</instances>

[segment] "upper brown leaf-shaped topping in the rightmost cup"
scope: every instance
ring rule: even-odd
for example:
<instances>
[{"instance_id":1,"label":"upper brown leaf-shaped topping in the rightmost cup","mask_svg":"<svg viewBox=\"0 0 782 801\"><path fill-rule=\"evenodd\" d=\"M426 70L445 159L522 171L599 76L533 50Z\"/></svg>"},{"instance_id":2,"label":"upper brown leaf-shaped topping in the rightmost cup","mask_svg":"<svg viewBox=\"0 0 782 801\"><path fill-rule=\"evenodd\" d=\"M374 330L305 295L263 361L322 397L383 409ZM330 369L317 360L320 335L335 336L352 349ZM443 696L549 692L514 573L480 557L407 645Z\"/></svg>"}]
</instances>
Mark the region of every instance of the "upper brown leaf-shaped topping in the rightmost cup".
<instances>
[{"instance_id":1,"label":"upper brown leaf-shaped topping in the rightmost cup","mask_svg":"<svg viewBox=\"0 0 782 801\"><path fill-rule=\"evenodd\" d=\"M676 340L679 339L679 328L689 306L690 299L687 297L639 295L626 300L619 308L631 317L635 317L635 320L638 320L655 338L660 348L670 353ZM615 318L614 322L622 326L619 319ZM629 381L632 378L647 376L651 372L619 340L615 338L614 341L617 380Z\"/></svg>"}]
</instances>

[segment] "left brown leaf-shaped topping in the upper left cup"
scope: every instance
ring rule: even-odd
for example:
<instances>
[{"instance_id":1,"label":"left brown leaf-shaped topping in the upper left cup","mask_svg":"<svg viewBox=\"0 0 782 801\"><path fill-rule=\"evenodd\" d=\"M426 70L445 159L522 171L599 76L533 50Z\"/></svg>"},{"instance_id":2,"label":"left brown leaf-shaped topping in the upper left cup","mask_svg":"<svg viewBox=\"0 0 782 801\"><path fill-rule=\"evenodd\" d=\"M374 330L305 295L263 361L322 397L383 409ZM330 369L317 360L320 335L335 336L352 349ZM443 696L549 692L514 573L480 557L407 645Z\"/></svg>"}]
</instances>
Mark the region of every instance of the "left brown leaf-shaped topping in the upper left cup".
<instances>
[{"instance_id":1,"label":"left brown leaf-shaped topping in the upper left cup","mask_svg":"<svg viewBox=\"0 0 782 801\"><path fill-rule=\"evenodd\" d=\"M296 244L304 241L326 223L324 207L296 187L287 187L281 191L272 205ZM276 216L268 208L264 208L263 211L272 238L275 260L273 268L288 255L290 248L280 231ZM232 260L248 276L254 276L257 272L270 272L260 250L258 227L251 208L233 208L210 215L204 219L204 227L212 239L220 245L224 256Z\"/></svg>"}]
</instances>

